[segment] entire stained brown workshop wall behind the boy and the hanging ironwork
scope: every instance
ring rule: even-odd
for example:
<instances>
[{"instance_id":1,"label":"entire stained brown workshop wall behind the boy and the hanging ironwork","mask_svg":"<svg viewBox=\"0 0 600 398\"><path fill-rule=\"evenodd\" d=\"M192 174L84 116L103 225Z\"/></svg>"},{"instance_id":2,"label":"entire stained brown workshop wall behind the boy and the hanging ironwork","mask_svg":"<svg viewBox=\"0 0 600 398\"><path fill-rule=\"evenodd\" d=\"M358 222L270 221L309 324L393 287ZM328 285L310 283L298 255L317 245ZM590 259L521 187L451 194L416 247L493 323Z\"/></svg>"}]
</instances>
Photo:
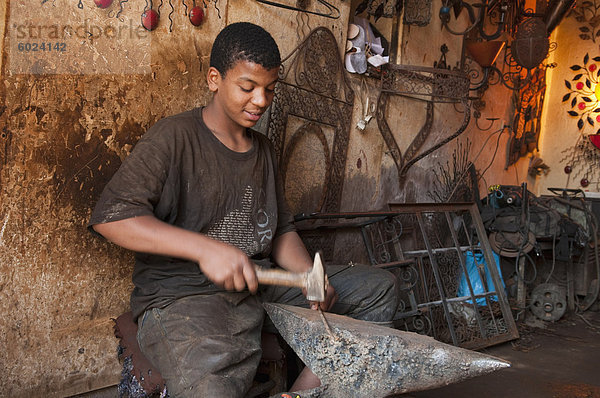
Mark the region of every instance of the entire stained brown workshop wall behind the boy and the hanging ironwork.
<instances>
[{"instance_id":1,"label":"entire stained brown workshop wall behind the boy and the hanging ironwork","mask_svg":"<svg viewBox=\"0 0 600 398\"><path fill-rule=\"evenodd\" d=\"M343 48L351 19L351 4L342 0L332 2L340 9L337 20L246 0L206 3L204 23L194 27L181 2L172 2L170 26L170 3L164 2L158 27L148 32L139 28L143 1L122 3L121 12L118 2L106 9L91 1L80 2L81 8L67 0L0 2L6 11L0 43L1 395L64 396L118 382L111 318L128 309L132 258L89 234L86 221L103 186L149 126L207 102L205 73L217 32L249 20L269 30L286 55L317 26L327 26ZM462 37L441 30L440 5L433 1L427 26L401 26L398 62L433 66L444 43L448 65L459 62ZM26 43L38 43L38 51ZM50 54L40 50L41 43L66 48ZM350 82L356 126L366 98L377 100L379 81L351 75ZM527 159L505 171L508 134L497 132L511 120L510 95L491 87L482 123L497 118L494 127L481 131L471 122L457 140L417 162L402 182L375 120L364 131L352 127L341 210L431 201L436 170L467 140L469 159L485 171L482 188L521 183ZM423 148L462 122L452 105L436 104L434 114ZM405 150L425 122L425 105L395 98L389 115ZM338 242L340 261L353 246Z\"/></svg>"}]
</instances>

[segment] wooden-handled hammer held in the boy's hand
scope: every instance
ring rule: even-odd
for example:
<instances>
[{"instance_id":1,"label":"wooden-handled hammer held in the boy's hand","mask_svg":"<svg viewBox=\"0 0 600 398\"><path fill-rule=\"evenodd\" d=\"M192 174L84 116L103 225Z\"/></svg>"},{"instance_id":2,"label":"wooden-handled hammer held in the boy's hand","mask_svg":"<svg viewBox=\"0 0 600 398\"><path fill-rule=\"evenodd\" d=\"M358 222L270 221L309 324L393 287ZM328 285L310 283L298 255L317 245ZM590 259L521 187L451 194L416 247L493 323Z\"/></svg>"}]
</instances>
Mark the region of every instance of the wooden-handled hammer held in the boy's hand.
<instances>
[{"instance_id":1,"label":"wooden-handled hammer held in the boy's hand","mask_svg":"<svg viewBox=\"0 0 600 398\"><path fill-rule=\"evenodd\" d=\"M308 301L325 301L325 289L327 283L325 279L325 270L321 262L319 253L315 254L313 267L310 271L294 273L289 271L264 269L259 266L254 267L258 283L276 286L290 286L306 289L306 299Z\"/></svg>"}]
</instances>

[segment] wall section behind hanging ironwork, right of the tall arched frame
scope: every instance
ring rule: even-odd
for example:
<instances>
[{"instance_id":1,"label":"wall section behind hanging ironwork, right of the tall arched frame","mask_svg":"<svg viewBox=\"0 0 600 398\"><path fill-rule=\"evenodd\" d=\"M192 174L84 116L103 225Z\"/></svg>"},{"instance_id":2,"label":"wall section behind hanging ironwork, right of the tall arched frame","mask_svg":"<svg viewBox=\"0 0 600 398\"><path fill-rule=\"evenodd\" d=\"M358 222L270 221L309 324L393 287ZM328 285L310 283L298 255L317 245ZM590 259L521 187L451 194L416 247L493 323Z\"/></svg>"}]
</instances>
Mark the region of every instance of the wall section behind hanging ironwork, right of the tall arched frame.
<instances>
[{"instance_id":1,"label":"wall section behind hanging ironwork, right of the tall arched frame","mask_svg":"<svg viewBox=\"0 0 600 398\"><path fill-rule=\"evenodd\" d=\"M448 47L446 63L451 68L459 67L463 51L463 37L450 34L442 29L438 12L441 1L432 2L432 17L426 26L403 25L400 32L399 63L403 65L433 67L440 60L440 48ZM466 13L455 21L456 29L468 26ZM383 30L383 29L382 29ZM499 59L502 59L502 54ZM502 68L502 66L500 66ZM367 96L370 102L377 100L379 80L351 75L357 97L353 126L362 117L362 109ZM361 91L366 81L367 90ZM472 93L475 95L475 93ZM464 151L470 142L467 158L474 162L480 175L480 190L492 184L518 185L523 181L535 184L535 179L527 176L527 159L507 167L506 150L510 137L509 129L513 118L511 90L502 85L490 86L482 97L484 107L481 110L480 126L474 118L458 138L434 151L409 169L406 178L399 180L398 173L390 154L373 119L365 129L353 128L350 152L347 163L343 207L346 210L383 209L389 202L431 202L435 191L435 182L440 167L446 168L446 162L452 163L453 153ZM453 134L463 121L461 105L435 104L432 133L422 146L424 151L445 137ZM488 118L496 119L493 124ZM388 124L401 150L406 150L414 140L426 119L426 105L414 99L396 96L392 99L388 111ZM491 126L490 126L491 124Z\"/></svg>"}]
</instances>

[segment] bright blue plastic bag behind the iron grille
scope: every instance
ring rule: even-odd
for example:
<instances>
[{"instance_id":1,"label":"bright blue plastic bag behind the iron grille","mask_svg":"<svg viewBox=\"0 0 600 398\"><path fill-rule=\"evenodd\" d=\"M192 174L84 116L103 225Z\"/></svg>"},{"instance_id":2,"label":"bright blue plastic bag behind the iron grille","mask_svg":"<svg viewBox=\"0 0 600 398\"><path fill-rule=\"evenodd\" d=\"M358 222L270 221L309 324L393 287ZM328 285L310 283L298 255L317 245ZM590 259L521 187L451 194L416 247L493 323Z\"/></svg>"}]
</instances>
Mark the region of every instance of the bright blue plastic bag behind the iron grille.
<instances>
[{"instance_id":1,"label":"bright blue plastic bag behind the iron grille","mask_svg":"<svg viewBox=\"0 0 600 398\"><path fill-rule=\"evenodd\" d=\"M496 262L496 269L498 270L498 276L500 277L500 283L502 283L502 289L505 289L504 279L502 278L502 271L500 270L500 257L495 252L492 252L494 255L494 261ZM467 273L469 275L469 279L471 280L471 286L473 287L473 294L482 294L486 293L484 289L483 283L481 282L481 277L479 274L479 270L477 269L477 264L480 266L483 265L485 269L486 276L486 284L490 292L495 292L496 287L492 280L492 276L490 275L489 269L487 267L487 263L481 251L476 251L473 254L472 251L467 251L465 253L465 265L467 267ZM469 285L467 283L467 278L465 278L464 273L460 273L460 281L458 284L458 297L471 296L471 292L469 292ZM488 296L489 299L493 301L498 301L498 296L491 295ZM467 300L467 303L472 303L471 300ZM477 298L477 305L486 305L485 297Z\"/></svg>"}]
</instances>

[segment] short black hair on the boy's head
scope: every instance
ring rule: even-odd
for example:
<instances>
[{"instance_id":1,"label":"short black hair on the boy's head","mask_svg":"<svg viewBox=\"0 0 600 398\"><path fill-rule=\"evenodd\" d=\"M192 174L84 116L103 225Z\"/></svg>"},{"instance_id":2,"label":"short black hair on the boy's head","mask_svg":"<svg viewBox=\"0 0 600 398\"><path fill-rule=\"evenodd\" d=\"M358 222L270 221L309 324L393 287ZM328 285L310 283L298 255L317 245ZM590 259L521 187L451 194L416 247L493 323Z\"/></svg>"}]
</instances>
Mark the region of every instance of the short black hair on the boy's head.
<instances>
[{"instance_id":1,"label":"short black hair on the boy's head","mask_svg":"<svg viewBox=\"0 0 600 398\"><path fill-rule=\"evenodd\" d=\"M281 55L269 32L249 22L236 22L217 35L210 52L210 66L225 77L237 61L272 69L281 65Z\"/></svg>"}]
</instances>

